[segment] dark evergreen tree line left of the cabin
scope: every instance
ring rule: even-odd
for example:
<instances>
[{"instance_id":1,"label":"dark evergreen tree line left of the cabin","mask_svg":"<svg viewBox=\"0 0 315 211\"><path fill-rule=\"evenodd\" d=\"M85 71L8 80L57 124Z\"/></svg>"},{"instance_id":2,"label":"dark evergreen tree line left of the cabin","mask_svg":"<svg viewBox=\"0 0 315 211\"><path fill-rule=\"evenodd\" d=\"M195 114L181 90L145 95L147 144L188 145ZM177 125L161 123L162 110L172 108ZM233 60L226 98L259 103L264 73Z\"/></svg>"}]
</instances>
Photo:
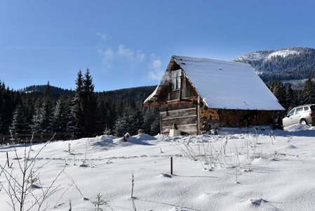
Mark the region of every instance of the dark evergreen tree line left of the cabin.
<instances>
[{"instance_id":1,"label":"dark evergreen tree line left of the cabin","mask_svg":"<svg viewBox=\"0 0 315 211\"><path fill-rule=\"evenodd\" d=\"M90 70L79 70L76 89L58 96L45 91L13 91L0 81L0 134L74 132L80 137L159 133L159 110L143 107L154 88L95 92Z\"/></svg>"}]
</instances>

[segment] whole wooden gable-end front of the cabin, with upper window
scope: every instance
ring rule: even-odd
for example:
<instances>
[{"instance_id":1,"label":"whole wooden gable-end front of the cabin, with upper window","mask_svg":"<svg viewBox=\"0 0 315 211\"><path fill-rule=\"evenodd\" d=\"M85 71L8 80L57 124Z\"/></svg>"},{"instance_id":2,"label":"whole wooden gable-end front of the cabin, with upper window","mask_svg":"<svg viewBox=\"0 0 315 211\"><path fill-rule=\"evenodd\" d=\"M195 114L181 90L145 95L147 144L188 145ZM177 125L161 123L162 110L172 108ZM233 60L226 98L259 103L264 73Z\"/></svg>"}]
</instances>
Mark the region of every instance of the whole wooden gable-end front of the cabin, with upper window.
<instances>
[{"instance_id":1,"label":"whole wooden gable-end front of the cabin, with upper window","mask_svg":"<svg viewBox=\"0 0 315 211\"><path fill-rule=\"evenodd\" d=\"M170 63L169 70L163 76L158 87L159 94L152 103L160 108L161 133L168 132L175 127L187 134L196 134L197 125L197 106L196 98L198 93L185 75L185 72L176 62ZM177 79L175 79L175 72ZM151 105L152 105L151 103ZM150 103L145 103L148 106Z\"/></svg>"}]
</instances>

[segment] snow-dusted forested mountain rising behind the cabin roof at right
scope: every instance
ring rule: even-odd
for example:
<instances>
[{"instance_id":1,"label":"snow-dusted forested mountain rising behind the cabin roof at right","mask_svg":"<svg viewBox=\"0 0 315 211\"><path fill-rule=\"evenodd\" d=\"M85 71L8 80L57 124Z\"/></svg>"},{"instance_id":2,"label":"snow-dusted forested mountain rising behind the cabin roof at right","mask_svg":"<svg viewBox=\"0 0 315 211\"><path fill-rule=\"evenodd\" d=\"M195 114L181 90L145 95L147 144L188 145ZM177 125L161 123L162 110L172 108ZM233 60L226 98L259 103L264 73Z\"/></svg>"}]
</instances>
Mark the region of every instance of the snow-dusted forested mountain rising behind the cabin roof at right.
<instances>
[{"instance_id":1,"label":"snow-dusted forested mountain rising behind the cabin roof at right","mask_svg":"<svg viewBox=\"0 0 315 211\"><path fill-rule=\"evenodd\" d=\"M315 77L315 49L310 48L255 51L233 61L250 64L265 83Z\"/></svg>"}]
</instances>

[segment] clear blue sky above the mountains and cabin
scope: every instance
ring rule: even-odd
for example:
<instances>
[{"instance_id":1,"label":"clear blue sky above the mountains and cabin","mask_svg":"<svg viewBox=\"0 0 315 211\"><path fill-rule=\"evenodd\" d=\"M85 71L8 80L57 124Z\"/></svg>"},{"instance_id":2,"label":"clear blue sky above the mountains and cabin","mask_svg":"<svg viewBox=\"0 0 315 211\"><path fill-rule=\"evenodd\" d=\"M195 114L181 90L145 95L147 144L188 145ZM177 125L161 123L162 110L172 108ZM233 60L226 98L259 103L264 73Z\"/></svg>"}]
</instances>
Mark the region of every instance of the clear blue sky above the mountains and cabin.
<instances>
[{"instance_id":1,"label":"clear blue sky above the mountains and cabin","mask_svg":"<svg viewBox=\"0 0 315 211\"><path fill-rule=\"evenodd\" d=\"M0 79L11 89L158 84L172 55L232 60L315 48L315 1L0 1Z\"/></svg>"}]
</instances>

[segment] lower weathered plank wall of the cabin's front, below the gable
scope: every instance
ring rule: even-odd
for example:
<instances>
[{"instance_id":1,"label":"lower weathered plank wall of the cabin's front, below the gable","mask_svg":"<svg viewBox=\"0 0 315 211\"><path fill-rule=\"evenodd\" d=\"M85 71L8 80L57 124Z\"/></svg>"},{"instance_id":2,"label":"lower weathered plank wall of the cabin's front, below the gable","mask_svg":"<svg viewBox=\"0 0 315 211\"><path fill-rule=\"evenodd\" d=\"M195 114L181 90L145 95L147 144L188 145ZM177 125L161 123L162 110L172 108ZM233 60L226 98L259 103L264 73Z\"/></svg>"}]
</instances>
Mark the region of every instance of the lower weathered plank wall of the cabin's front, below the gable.
<instances>
[{"instance_id":1,"label":"lower weathered plank wall of the cabin's front, below the gable","mask_svg":"<svg viewBox=\"0 0 315 211\"><path fill-rule=\"evenodd\" d=\"M197 114L194 103L176 103L165 105L160 108L161 133L173 129L176 124L177 129L188 134L197 132Z\"/></svg>"}]
</instances>

